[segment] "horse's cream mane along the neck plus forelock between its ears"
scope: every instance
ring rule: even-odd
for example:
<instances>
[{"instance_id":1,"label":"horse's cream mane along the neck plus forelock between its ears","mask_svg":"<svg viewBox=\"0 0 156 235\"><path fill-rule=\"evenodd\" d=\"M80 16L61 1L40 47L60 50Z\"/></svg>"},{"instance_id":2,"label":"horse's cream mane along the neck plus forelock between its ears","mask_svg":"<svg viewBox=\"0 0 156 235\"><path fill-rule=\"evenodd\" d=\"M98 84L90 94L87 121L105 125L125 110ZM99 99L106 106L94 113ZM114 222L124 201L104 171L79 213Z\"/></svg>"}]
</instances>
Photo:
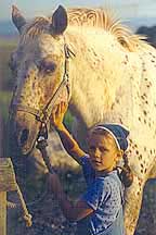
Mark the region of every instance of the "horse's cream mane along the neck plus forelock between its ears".
<instances>
[{"instance_id":1,"label":"horse's cream mane along the neck plus forelock between its ears","mask_svg":"<svg viewBox=\"0 0 156 235\"><path fill-rule=\"evenodd\" d=\"M145 37L133 34L130 28L121 24L121 21L115 18L110 11L103 9L68 9L69 25L78 27L99 27L113 34L119 44L128 51L135 51L138 46L143 44L141 39ZM25 37L35 37L48 29L51 17L36 17L26 28Z\"/></svg>"}]
</instances>

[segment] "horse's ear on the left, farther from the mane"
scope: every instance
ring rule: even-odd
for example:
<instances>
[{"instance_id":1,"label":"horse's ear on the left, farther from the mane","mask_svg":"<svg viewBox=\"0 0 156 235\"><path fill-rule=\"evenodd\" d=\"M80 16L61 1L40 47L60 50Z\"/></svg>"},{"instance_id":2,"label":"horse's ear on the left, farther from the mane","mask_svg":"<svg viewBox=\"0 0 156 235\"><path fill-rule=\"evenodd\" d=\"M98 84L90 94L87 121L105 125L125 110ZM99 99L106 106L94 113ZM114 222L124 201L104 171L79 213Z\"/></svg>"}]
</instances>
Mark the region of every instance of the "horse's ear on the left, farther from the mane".
<instances>
[{"instance_id":1,"label":"horse's ear on the left, farther from the mane","mask_svg":"<svg viewBox=\"0 0 156 235\"><path fill-rule=\"evenodd\" d=\"M26 20L15 5L12 5L12 21L18 29L18 32L22 33L22 27L26 24Z\"/></svg>"}]
</instances>

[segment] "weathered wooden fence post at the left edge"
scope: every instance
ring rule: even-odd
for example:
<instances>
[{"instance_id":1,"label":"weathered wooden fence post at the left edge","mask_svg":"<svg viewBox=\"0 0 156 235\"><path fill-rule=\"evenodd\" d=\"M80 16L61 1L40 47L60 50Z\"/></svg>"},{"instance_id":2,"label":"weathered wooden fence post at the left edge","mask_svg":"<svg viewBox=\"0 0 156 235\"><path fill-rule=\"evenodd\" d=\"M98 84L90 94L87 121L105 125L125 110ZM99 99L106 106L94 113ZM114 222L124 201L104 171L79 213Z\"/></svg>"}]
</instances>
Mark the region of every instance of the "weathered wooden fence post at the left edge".
<instances>
[{"instance_id":1,"label":"weathered wooden fence post at the left edge","mask_svg":"<svg viewBox=\"0 0 156 235\"><path fill-rule=\"evenodd\" d=\"M16 188L11 159L0 158L0 235L6 235L6 191Z\"/></svg>"}]
</instances>

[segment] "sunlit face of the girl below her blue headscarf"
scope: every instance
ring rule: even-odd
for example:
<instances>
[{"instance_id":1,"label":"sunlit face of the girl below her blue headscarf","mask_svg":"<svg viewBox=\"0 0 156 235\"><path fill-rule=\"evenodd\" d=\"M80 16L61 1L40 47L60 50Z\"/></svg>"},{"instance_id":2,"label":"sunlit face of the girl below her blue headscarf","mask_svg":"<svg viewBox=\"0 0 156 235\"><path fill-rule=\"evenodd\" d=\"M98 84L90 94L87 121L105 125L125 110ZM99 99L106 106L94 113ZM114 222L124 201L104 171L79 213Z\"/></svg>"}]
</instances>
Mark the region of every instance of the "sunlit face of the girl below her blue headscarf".
<instances>
[{"instance_id":1,"label":"sunlit face of the girl below her blue headscarf","mask_svg":"<svg viewBox=\"0 0 156 235\"><path fill-rule=\"evenodd\" d=\"M116 146L109 135L92 133L88 140L91 165L95 171L113 171L122 156L122 150Z\"/></svg>"}]
</instances>

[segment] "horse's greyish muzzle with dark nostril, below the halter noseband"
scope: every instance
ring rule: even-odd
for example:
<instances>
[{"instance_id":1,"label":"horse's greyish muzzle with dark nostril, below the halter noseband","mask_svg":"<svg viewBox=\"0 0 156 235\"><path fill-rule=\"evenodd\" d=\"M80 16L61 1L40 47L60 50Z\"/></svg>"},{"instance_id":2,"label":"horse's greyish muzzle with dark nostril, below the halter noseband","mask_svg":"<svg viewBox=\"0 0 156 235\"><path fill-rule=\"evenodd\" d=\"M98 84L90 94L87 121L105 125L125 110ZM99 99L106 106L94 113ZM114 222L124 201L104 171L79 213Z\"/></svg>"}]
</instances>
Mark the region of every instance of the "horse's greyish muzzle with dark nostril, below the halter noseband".
<instances>
[{"instance_id":1,"label":"horse's greyish muzzle with dark nostril, below the halter noseband","mask_svg":"<svg viewBox=\"0 0 156 235\"><path fill-rule=\"evenodd\" d=\"M40 122L34 115L17 111L11 119L10 133L17 145L22 154L28 154L37 140L40 129Z\"/></svg>"}]
</instances>

